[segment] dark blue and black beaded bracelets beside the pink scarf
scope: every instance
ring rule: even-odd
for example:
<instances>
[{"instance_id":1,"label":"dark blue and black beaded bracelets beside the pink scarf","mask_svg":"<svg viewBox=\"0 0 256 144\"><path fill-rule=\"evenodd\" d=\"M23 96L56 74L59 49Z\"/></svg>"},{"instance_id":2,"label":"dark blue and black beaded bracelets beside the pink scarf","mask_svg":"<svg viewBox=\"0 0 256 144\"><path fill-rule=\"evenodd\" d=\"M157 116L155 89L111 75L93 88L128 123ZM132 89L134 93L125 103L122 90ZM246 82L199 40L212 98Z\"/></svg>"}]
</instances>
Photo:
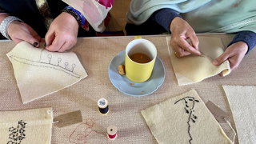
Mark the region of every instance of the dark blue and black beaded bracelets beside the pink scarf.
<instances>
[{"instance_id":1,"label":"dark blue and black beaded bracelets beside the pink scarf","mask_svg":"<svg viewBox=\"0 0 256 144\"><path fill-rule=\"evenodd\" d=\"M81 26L84 26L86 24L86 18L80 13L78 10L75 10L71 6L66 6L62 12L66 12L68 14L71 14Z\"/></svg>"}]
</instances>

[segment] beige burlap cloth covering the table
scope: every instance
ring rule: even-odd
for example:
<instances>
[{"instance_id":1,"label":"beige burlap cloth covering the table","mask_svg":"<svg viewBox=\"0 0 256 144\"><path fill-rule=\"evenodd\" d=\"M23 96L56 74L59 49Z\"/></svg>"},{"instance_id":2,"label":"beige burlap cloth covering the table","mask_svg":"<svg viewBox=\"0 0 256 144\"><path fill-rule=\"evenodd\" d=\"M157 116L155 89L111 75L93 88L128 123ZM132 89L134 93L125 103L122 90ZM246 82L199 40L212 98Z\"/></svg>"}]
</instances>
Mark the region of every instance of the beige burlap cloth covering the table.
<instances>
[{"instance_id":1,"label":"beige burlap cloth covering the table","mask_svg":"<svg viewBox=\"0 0 256 144\"><path fill-rule=\"evenodd\" d=\"M221 37L224 46L233 37L232 35L211 36ZM158 102L163 102L167 98L194 89L198 91L203 102L210 100L225 110L230 115L231 123L234 126L230 106L224 90L222 90L222 85L256 85L255 49L246 55L237 70L225 78L217 75L196 84L178 86L170 62L166 35L142 36L142 38L154 43L158 50L158 58L162 59L166 70L165 82L154 94L143 97L127 96L119 92L110 82L108 67L111 59L120 51L125 50L126 45L134 37L78 38L78 43L72 51L78 55L88 77L64 90L27 104L22 104L14 71L6 56L6 53L14 47L14 43L1 42L0 110L26 110L52 106L54 117L74 110L81 110L82 125L75 124L63 128L54 126L52 143L74 143L75 134L80 134L86 128L90 128L90 133L83 140L85 142L150 144L157 142L146 126L140 111ZM33 84L31 83L31 85ZM106 98L109 101L109 114L99 114L97 106L99 98ZM106 138L106 128L110 125L118 127L118 138L111 142Z\"/></svg>"}]
</instances>

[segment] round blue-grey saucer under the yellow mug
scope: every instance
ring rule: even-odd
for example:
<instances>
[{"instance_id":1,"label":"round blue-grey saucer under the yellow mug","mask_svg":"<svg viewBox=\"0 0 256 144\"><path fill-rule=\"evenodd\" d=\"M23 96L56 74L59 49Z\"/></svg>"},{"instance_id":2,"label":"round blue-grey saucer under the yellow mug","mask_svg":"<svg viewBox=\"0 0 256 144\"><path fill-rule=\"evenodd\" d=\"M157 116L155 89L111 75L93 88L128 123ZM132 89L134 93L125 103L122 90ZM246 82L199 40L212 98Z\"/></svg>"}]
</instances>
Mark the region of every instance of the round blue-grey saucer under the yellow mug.
<instances>
[{"instance_id":1,"label":"round blue-grey saucer under the yellow mug","mask_svg":"<svg viewBox=\"0 0 256 144\"><path fill-rule=\"evenodd\" d=\"M126 51L121 51L110 62L110 82L123 94L130 96L145 96L154 93L165 80L166 72L160 58L156 58L151 77L146 82L132 82L125 75L118 74L118 66L124 65Z\"/></svg>"}]
</instances>

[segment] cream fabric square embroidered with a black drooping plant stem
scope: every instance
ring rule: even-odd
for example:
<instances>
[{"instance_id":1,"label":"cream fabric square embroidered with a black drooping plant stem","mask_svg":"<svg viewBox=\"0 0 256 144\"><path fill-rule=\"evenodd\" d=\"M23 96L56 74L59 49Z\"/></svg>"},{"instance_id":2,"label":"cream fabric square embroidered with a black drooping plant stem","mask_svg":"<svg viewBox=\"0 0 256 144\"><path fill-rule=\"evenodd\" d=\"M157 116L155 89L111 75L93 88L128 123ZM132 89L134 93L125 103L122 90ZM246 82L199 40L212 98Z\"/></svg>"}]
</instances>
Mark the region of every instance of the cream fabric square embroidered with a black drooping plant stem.
<instances>
[{"instance_id":1,"label":"cream fabric square embroidered with a black drooping plant stem","mask_svg":"<svg viewBox=\"0 0 256 144\"><path fill-rule=\"evenodd\" d=\"M196 90L142 110L158 143L232 143Z\"/></svg>"}]
</instances>

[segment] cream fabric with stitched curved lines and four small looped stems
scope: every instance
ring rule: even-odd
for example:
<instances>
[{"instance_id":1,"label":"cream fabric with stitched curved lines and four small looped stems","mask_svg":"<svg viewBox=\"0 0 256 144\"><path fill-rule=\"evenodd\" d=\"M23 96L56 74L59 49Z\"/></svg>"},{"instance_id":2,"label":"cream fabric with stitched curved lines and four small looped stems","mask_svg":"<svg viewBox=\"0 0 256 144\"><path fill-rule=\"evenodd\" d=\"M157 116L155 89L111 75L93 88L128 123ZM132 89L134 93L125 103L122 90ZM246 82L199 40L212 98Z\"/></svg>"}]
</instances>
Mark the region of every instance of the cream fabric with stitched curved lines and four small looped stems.
<instances>
[{"instance_id":1,"label":"cream fabric with stitched curved lines and four small looped stems","mask_svg":"<svg viewBox=\"0 0 256 144\"><path fill-rule=\"evenodd\" d=\"M73 52L50 52L20 42L7 56L23 103L62 90L87 76Z\"/></svg>"}]
</instances>

